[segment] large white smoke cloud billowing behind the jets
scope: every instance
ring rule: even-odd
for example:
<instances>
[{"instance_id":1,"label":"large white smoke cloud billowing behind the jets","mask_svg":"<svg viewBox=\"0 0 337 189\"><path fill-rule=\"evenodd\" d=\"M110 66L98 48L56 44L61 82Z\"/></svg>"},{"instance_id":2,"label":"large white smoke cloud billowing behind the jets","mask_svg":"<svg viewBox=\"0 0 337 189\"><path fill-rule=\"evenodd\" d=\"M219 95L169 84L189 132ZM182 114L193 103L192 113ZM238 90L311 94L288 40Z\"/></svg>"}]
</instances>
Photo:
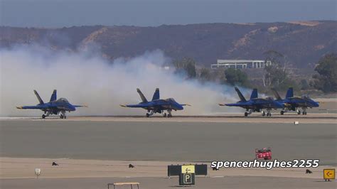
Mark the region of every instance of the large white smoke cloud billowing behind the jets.
<instances>
[{"instance_id":1,"label":"large white smoke cloud billowing behind the jets","mask_svg":"<svg viewBox=\"0 0 337 189\"><path fill-rule=\"evenodd\" d=\"M72 104L87 104L70 115L143 115L144 109L119 107L119 104L140 102L136 88L151 99L156 87L161 98L173 97L177 102L191 104L179 115L201 115L232 112L218 103L236 102L232 87L215 83L201 84L184 80L163 68L169 61L161 50L144 53L136 58L119 58L109 63L100 55L88 52L69 53L24 46L0 50L1 117L41 116L39 110L21 110L16 106L38 104L33 90L44 102L58 90ZM237 111L235 109L234 111Z\"/></svg>"}]
</instances>

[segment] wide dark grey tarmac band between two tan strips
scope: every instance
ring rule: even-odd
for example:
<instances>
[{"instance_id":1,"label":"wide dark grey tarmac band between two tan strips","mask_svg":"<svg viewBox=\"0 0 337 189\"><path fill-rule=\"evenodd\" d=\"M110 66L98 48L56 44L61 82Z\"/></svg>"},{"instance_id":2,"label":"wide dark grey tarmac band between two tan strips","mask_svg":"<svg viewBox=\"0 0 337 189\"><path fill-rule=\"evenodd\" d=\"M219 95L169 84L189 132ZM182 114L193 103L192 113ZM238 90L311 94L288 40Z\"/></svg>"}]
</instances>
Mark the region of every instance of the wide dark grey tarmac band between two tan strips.
<instances>
[{"instance_id":1,"label":"wide dark grey tarmac band between two tan strips","mask_svg":"<svg viewBox=\"0 0 337 189\"><path fill-rule=\"evenodd\" d=\"M285 121L287 121L285 119ZM0 156L146 161L279 160L336 166L336 124L1 120Z\"/></svg>"}]
</instances>

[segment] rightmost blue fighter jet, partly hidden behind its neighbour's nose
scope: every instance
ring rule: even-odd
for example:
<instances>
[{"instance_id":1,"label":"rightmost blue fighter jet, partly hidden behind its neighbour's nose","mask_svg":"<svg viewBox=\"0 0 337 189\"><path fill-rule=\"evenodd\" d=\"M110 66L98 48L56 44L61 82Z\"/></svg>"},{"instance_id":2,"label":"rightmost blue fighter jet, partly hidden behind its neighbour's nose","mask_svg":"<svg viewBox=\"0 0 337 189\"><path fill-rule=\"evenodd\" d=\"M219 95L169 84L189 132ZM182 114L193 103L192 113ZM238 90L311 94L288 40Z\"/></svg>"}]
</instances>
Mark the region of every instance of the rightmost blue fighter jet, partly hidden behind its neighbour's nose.
<instances>
[{"instance_id":1,"label":"rightmost blue fighter jet, partly hidden behind its neighbour's nose","mask_svg":"<svg viewBox=\"0 0 337 189\"><path fill-rule=\"evenodd\" d=\"M306 115L306 109L319 107L319 102L315 102L307 95L302 97L294 97L294 90L292 87L289 87L284 99L279 96L277 90L272 89L272 92L274 92L277 102L284 104L284 108L280 112L282 115L284 112L289 112L291 110L296 111L297 114L301 114L301 110L299 110L299 108L302 109L302 114Z\"/></svg>"}]
</instances>

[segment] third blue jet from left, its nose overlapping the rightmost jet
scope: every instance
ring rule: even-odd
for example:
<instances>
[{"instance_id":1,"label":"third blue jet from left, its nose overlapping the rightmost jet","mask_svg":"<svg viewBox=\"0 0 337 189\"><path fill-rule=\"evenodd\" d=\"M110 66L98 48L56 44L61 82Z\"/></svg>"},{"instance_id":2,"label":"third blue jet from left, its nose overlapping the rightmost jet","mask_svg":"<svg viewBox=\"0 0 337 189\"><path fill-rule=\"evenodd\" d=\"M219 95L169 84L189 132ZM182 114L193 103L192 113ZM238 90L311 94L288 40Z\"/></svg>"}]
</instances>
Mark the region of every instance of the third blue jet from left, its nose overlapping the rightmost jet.
<instances>
[{"instance_id":1,"label":"third blue jet from left, its nose overlapping the rightmost jet","mask_svg":"<svg viewBox=\"0 0 337 189\"><path fill-rule=\"evenodd\" d=\"M262 116L265 116L266 113L263 111L263 109L267 109L267 116L271 117L272 109L284 107L282 103L275 101L272 97L267 97L265 99L258 98L257 89L252 90L252 95L250 95L249 100L246 100L245 97L243 97L242 93L237 87L235 87L235 90L237 92L237 95L239 95L240 97L239 102L234 104L219 104L219 105L228 107L242 107L247 111L245 112L245 117L247 117L248 114L252 114L252 112L261 112Z\"/></svg>"}]
</instances>

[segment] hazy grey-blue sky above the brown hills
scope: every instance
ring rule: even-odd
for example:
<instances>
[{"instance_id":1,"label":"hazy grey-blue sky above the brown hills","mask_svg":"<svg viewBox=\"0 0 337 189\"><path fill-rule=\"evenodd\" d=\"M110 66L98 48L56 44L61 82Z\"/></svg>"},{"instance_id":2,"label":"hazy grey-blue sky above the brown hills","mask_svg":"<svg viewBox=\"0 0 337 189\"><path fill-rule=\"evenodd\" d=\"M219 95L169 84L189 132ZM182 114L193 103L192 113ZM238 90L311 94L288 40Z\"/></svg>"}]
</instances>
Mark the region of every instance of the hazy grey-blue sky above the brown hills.
<instances>
[{"instance_id":1,"label":"hazy grey-blue sky above the brown hills","mask_svg":"<svg viewBox=\"0 0 337 189\"><path fill-rule=\"evenodd\" d=\"M0 0L0 25L160 26L336 20L336 0Z\"/></svg>"}]
</instances>

